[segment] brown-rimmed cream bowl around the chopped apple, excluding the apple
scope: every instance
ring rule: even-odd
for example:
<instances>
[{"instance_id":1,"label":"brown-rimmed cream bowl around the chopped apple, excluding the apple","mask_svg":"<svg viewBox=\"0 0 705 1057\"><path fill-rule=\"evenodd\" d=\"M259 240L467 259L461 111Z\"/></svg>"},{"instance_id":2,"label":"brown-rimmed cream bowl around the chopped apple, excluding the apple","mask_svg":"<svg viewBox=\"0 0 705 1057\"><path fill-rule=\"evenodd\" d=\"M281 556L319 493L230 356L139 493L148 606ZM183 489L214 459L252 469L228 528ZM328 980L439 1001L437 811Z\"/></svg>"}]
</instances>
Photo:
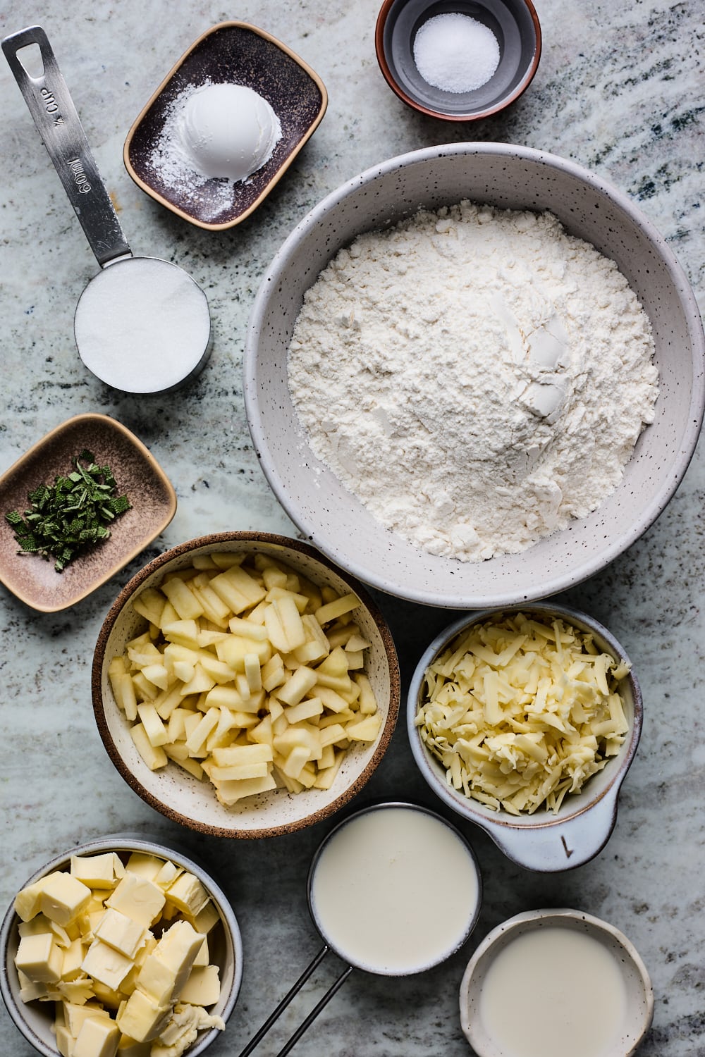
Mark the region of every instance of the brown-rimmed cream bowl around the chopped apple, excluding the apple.
<instances>
[{"instance_id":1,"label":"brown-rimmed cream bowl around the chopped apple, excluding the apple","mask_svg":"<svg viewBox=\"0 0 705 1057\"><path fill-rule=\"evenodd\" d=\"M353 746L330 790L292 794L274 790L221 804L210 782L199 782L181 767L150 771L142 760L118 709L108 679L108 665L124 652L125 644L146 626L132 610L132 597L157 586L165 573L184 569L197 554L214 551L262 553L289 564L315 583L340 594L353 591L363 602L355 623L370 642L366 673L372 684L382 729L374 742ZM338 811L363 789L379 764L394 730L400 706L400 671L396 650L387 623L367 591L346 576L308 543L270 533L231 532L201 536L150 561L117 596L100 629L93 657L93 710L110 759L130 787L167 818L219 837L271 837L312 826Z\"/></svg>"}]
</instances>

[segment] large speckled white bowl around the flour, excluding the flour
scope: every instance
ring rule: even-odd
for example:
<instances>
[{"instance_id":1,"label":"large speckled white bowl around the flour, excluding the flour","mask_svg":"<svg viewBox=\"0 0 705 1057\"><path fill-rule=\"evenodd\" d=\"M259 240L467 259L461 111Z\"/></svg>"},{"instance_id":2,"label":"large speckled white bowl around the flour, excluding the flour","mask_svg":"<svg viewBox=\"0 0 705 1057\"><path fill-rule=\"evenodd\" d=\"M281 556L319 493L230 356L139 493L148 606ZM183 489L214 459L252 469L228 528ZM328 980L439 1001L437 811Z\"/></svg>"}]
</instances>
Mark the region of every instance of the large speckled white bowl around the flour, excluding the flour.
<instances>
[{"instance_id":1,"label":"large speckled white bowl around the flour, excluding the flour","mask_svg":"<svg viewBox=\"0 0 705 1057\"><path fill-rule=\"evenodd\" d=\"M470 199L549 209L570 235L612 258L653 328L656 416L616 492L593 514L518 555L464 563L426 554L381 522L313 453L289 393L286 355L305 291L361 231L420 207ZM245 346L245 404L258 458L307 538L359 579L431 606L482 609L554 594L592 576L645 532L675 492L705 403L698 305L664 239L630 200L573 162L507 144L465 143L404 154L355 177L289 236L263 277Z\"/></svg>"}]
</instances>

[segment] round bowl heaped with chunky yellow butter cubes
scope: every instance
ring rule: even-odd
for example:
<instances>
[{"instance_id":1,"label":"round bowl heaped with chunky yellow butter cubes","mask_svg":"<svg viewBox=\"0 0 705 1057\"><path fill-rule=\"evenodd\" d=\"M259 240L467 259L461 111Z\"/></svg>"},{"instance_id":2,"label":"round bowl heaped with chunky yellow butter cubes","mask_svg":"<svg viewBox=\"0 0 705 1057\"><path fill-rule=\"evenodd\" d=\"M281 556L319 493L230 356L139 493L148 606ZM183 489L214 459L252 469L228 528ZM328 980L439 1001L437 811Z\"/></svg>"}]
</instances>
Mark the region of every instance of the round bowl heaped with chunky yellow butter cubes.
<instances>
[{"instance_id":1,"label":"round bowl heaped with chunky yellow butter cubes","mask_svg":"<svg viewBox=\"0 0 705 1057\"><path fill-rule=\"evenodd\" d=\"M136 834L56 855L19 888L0 933L2 998L44 1057L197 1057L225 1028L242 942L198 863Z\"/></svg>"}]
</instances>

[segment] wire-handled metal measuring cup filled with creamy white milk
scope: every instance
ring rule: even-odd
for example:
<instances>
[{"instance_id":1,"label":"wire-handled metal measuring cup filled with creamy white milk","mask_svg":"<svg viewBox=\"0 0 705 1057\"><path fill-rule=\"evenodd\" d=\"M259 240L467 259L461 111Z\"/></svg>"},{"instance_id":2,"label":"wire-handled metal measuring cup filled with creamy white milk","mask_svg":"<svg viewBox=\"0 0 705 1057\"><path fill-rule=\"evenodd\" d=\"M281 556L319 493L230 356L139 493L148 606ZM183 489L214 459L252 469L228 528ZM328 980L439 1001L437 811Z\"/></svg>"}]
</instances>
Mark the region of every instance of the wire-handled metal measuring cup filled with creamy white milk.
<instances>
[{"instance_id":1,"label":"wire-handled metal measuring cup filled with creamy white milk","mask_svg":"<svg viewBox=\"0 0 705 1057\"><path fill-rule=\"evenodd\" d=\"M256 1049L330 950L348 966L277 1057L293 1049L354 968L402 977L450 958L475 928L482 880L472 849L450 822L427 808L385 801L326 837L308 894L324 946L239 1057Z\"/></svg>"}]
</instances>

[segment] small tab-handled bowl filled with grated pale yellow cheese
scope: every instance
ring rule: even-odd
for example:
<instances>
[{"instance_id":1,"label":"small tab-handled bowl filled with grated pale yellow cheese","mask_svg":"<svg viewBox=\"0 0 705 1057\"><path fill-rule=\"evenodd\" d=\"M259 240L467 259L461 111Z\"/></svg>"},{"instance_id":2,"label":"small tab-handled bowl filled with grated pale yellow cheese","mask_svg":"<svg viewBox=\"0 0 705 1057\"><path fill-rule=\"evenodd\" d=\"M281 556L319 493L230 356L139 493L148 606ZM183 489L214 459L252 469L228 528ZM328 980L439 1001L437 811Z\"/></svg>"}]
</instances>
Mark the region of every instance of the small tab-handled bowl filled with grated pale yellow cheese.
<instances>
[{"instance_id":1,"label":"small tab-handled bowl filled with grated pale yellow cheese","mask_svg":"<svg viewBox=\"0 0 705 1057\"><path fill-rule=\"evenodd\" d=\"M465 614L425 651L407 729L433 792L530 870L609 840L642 731L631 661L594 617L534 602Z\"/></svg>"}]
</instances>

